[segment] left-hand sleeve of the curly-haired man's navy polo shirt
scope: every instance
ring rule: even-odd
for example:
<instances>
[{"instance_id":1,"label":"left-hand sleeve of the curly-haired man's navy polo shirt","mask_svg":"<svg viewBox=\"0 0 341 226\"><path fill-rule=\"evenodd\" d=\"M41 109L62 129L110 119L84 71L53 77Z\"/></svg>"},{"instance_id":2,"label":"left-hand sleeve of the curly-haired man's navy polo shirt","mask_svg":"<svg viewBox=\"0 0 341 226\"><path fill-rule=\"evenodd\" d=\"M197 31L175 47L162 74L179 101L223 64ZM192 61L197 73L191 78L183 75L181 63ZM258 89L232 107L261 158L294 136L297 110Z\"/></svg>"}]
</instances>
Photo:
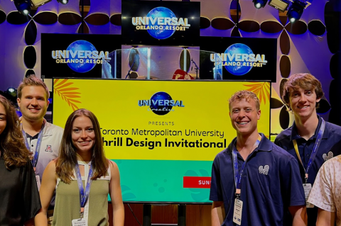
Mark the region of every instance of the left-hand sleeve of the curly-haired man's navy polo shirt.
<instances>
[{"instance_id":1,"label":"left-hand sleeve of the curly-haired man's navy polo shirt","mask_svg":"<svg viewBox=\"0 0 341 226\"><path fill-rule=\"evenodd\" d=\"M220 183L220 167L219 167L219 157L215 157L212 164L212 179L210 188L210 200L212 201L222 201L222 186Z\"/></svg>"}]
</instances>

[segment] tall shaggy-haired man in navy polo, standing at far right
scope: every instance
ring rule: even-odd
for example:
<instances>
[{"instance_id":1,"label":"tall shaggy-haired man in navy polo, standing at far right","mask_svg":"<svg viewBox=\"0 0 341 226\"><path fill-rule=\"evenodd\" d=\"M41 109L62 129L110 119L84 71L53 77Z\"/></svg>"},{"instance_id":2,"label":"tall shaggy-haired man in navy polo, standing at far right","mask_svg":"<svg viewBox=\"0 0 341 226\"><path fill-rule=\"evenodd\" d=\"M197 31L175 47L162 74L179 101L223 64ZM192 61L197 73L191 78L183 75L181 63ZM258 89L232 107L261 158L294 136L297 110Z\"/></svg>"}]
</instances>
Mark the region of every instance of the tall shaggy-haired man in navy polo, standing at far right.
<instances>
[{"instance_id":1,"label":"tall shaggy-haired man in navy polo, standing at far right","mask_svg":"<svg viewBox=\"0 0 341 226\"><path fill-rule=\"evenodd\" d=\"M298 159L306 198L323 163L341 154L341 127L316 113L322 97L320 81L305 73L291 75L282 94L295 122L276 137L275 144ZM307 213L308 225L316 225L318 208L307 203Z\"/></svg>"}]
</instances>

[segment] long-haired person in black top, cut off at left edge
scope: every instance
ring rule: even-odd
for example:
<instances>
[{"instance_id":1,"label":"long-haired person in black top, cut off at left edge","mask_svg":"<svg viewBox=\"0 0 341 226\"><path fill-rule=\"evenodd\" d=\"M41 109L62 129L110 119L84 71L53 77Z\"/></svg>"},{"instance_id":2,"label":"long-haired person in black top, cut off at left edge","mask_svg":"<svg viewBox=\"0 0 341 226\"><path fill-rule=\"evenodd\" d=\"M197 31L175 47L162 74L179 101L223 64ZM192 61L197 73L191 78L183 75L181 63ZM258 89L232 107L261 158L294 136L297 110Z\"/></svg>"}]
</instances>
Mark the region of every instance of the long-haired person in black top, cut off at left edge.
<instances>
[{"instance_id":1,"label":"long-haired person in black top, cut off at left edge","mask_svg":"<svg viewBox=\"0 0 341 226\"><path fill-rule=\"evenodd\" d=\"M18 116L0 95L0 225L28 225L41 208L36 175Z\"/></svg>"}]
</instances>

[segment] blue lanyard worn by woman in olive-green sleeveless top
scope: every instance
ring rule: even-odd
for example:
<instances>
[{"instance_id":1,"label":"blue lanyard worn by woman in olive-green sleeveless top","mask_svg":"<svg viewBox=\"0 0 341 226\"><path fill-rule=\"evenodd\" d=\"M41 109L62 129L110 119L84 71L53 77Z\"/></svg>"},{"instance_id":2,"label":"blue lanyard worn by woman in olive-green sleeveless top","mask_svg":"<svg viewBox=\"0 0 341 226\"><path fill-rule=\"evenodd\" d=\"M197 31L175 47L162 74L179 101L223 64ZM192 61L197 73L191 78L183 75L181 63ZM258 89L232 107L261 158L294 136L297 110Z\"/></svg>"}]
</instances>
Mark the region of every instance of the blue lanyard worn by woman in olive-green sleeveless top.
<instances>
[{"instance_id":1,"label":"blue lanyard worn by woman in olive-green sleeveless top","mask_svg":"<svg viewBox=\"0 0 341 226\"><path fill-rule=\"evenodd\" d=\"M92 171L92 165L90 165L89 175L87 176L87 184L85 186L85 192L84 192L82 176L80 175L80 166L78 165L78 163L76 164L75 168L76 168L75 170L76 170L78 188L80 189L80 218L82 218L85 204L87 203L87 199L89 198L89 195L90 195L90 186L92 182L91 178L94 174Z\"/></svg>"}]
</instances>

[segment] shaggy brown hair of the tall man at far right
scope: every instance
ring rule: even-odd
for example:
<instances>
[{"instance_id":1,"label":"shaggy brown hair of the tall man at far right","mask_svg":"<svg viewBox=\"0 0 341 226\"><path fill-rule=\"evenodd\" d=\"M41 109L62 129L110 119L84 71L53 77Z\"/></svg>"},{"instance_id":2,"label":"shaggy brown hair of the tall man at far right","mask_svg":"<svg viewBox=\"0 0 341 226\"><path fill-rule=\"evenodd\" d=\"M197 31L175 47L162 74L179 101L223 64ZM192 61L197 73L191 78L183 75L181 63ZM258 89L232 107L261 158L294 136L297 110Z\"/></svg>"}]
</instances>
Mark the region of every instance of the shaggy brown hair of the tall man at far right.
<instances>
[{"instance_id":1,"label":"shaggy brown hair of the tall man at far right","mask_svg":"<svg viewBox=\"0 0 341 226\"><path fill-rule=\"evenodd\" d=\"M316 79L312 74L309 73L297 73L292 74L289 77L286 84L284 84L282 100L291 111L290 107L290 94L291 92L297 89L305 89L305 90L315 90L316 98L320 99L323 97L322 85L318 79ZM319 104L316 103L316 108L318 108Z\"/></svg>"}]
</instances>

